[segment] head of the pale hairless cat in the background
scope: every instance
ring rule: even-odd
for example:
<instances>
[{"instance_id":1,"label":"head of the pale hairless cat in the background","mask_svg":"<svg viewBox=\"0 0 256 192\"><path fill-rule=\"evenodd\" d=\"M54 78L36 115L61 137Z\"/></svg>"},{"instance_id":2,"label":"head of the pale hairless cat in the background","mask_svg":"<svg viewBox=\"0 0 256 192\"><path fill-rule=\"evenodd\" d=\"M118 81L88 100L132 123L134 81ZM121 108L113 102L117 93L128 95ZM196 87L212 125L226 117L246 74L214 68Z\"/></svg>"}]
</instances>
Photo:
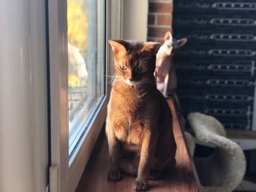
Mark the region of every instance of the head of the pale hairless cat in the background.
<instances>
[{"instance_id":1,"label":"head of the pale hairless cat in the background","mask_svg":"<svg viewBox=\"0 0 256 192\"><path fill-rule=\"evenodd\" d=\"M177 49L185 45L187 38L174 39L170 31L165 34L165 43L161 47L161 51L165 51L166 55L172 55Z\"/></svg>"}]
</instances>

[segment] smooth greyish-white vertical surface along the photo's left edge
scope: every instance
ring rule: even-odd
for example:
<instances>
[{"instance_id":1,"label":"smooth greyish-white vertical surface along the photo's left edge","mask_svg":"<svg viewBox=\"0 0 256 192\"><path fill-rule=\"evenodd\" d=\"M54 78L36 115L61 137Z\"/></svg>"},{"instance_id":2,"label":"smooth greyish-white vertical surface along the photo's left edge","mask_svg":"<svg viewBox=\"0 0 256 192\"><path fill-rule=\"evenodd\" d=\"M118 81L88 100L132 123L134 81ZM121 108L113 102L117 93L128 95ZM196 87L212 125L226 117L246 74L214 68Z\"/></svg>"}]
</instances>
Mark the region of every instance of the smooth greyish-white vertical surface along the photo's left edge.
<instances>
[{"instance_id":1,"label":"smooth greyish-white vertical surface along the photo's left edge","mask_svg":"<svg viewBox=\"0 0 256 192\"><path fill-rule=\"evenodd\" d=\"M45 1L0 6L0 191L45 191Z\"/></svg>"}]
</instances>

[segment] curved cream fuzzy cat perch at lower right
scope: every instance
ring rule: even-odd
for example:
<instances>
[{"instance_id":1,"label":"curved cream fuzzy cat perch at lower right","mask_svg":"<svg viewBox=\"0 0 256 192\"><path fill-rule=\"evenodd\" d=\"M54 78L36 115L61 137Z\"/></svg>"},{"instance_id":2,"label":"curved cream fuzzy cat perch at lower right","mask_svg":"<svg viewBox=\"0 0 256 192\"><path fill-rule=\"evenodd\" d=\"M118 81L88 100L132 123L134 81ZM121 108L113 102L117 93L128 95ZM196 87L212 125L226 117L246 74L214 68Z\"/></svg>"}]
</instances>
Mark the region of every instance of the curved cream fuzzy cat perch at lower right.
<instances>
[{"instance_id":1,"label":"curved cream fuzzy cat perch at lower right","mask_svg":"<svg viewBox=\"0 0 256 192\"><path fill-rule=\"evenodd\" d=\"M206 158L194 158L200 178L200 191L233 191L243 180L246 171L244 152L236 142L226 138L225 129L219 121L199 112L192 112L187 120L197 140L216 147ZM194 153L195 143L187 136L189 150Z\"/></svg>"}]
</instances>

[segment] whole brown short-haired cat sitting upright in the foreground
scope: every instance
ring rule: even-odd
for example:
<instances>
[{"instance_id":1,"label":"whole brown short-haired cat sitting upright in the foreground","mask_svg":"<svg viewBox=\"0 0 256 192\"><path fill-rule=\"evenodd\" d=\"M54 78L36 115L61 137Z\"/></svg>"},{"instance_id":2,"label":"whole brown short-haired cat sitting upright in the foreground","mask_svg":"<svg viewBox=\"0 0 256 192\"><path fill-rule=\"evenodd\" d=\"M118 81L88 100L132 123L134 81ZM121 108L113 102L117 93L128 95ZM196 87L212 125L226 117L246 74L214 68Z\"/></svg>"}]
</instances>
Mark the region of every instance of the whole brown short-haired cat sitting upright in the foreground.
<instances>
[{"instance_id":1,"label":"whole brown short-haired cat sitting upright in the foreground","mask_svg":"<svg viewBox=\"0 0 256 192\"><path fill-rule=\"evenodd\" d=\"M121 180L121 169L136 174L135 191L148 189L148 177L176 163L170 108L154 78L159 43L109 40L116 77L108 104L106 134L108 180ZM151 175L150 175L151 174Z\"/></svg>"}]
</instances>

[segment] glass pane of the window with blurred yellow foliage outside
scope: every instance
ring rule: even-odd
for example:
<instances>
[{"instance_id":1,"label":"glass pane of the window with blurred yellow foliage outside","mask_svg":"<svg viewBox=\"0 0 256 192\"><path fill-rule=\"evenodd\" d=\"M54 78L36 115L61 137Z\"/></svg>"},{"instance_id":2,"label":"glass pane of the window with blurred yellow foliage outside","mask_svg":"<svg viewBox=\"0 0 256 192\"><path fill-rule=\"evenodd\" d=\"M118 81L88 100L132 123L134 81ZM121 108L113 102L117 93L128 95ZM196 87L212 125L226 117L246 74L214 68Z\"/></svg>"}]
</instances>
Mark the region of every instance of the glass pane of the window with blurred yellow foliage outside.
<instances>
[{"instance_id":1,"label":"glass pane of the window with blurred yellow foliage outside","mask_svg":"<svg viewBox=\"0 0 256 192\"><path fill-rule=\"evenodd\" d=\"M104 1L67 0L69 155L105 91Z\"/></svg>"}]
</instances>

